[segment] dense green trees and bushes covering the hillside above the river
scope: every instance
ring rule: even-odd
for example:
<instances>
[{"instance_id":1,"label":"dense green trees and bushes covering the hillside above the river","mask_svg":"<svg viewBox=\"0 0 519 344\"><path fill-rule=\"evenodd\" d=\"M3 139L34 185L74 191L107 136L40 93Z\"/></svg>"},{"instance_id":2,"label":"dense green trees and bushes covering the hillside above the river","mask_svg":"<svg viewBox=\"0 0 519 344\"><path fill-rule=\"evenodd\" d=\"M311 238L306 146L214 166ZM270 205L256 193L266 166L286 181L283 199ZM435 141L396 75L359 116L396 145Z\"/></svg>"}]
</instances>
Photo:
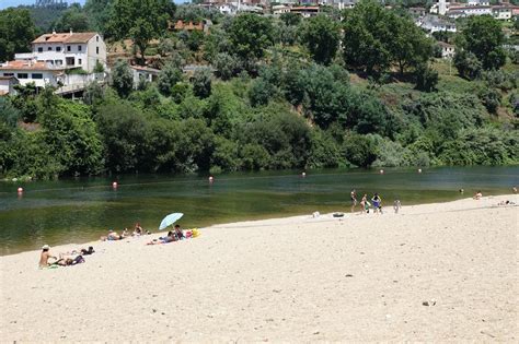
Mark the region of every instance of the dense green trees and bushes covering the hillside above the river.
<instances>
[{"instance_id":1,"label":"dense green trees and bushes covering the hillside above the river","mask_svg":"<svg viewBox=\"0 0 519 344\"><path fill-rule=\"evenodd\" d=\"M519 78L509 61L501 69L500 26L466 21L454 37L459 78L405 15L418 3L364 0L344 21L334 10L224 16L165 0L68 8L55 20L62 29L82 29L85 15L161 71L135 81L116 61L109 84L90 84L82 102L16 87L0 98L0 175L518 164ZM166 32L169 19L214 25ZM34 38L10 35L19 47Z\"/></svg>"}]
</instances>

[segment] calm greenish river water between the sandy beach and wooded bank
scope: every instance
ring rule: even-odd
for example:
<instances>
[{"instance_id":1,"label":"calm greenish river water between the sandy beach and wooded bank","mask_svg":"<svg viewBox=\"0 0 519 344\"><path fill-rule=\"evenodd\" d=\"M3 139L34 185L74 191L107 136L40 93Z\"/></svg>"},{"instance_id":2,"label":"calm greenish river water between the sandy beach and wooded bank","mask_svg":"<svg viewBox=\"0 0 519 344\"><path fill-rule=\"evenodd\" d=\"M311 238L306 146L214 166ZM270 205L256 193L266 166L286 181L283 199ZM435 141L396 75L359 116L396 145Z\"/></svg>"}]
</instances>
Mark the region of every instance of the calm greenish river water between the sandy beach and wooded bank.
<instances>
[{"instance_id":1,"label":"calm greenish river water between the sandy beach and wooded bank","mask_svg":"<svg viewBox=\"0 0 519 344\"><path fill-rule=\"evenodd\" d=\"M114 189L112 182L117 180ZM349 192L380 193L391 209L511 192L519 166L325 169L217 175L124 175L56 181L0 182L0 256L99 239L140 222L157 232L166 214L184 213L183 227L349 209ZM19 194L16 189L24 188ZM460 194L459 189L464 189Z\"/></svg>"}]
</instances>

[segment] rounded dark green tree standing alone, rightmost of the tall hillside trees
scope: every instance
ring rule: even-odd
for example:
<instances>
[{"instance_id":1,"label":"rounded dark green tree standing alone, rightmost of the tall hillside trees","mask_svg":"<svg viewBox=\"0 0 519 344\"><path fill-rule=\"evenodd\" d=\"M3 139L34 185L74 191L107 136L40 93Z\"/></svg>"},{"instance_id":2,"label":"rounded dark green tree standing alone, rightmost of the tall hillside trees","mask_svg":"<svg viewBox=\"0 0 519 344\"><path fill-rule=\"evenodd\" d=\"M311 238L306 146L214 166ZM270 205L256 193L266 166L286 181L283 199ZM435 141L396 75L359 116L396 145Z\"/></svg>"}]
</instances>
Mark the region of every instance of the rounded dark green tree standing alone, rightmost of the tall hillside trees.
<instances>
[{"instance_id":1,"label":"rounded dark green tree standing alone, rightmost of the tall hillside trees","mask_svg":"<svg viewBox=\"0 0 519 344\"><path fill-rule=\"evenodd\" d=\"M457 40L457 55L473 54L485 70L499 69L506 62L505 35L499 21L491 15L470 16Z\"/></svg>"}]
</instances>

